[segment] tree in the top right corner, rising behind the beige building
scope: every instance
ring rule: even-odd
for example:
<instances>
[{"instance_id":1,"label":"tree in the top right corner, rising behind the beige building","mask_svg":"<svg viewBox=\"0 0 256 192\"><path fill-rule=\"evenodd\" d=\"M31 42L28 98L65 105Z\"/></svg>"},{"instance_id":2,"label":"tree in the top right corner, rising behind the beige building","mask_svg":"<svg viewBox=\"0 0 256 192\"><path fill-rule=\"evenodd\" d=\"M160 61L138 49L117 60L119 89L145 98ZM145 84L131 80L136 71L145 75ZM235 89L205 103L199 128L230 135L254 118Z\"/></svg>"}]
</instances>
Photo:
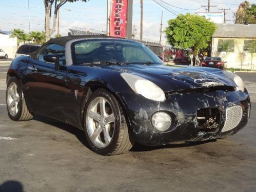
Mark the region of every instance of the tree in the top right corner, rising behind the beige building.
<instances>
[{"instance_id":1,"label":"tree in the top right corner, rising behind the beige building","mask_svg":"<svg viewBox=\"0 0 256 192\"><path fill-rule=\"evenodd\" d=\"M247 1L241 3L234 17L235 24L256 24L256 4L250 5Z\"/></svg>"}]
</instances>

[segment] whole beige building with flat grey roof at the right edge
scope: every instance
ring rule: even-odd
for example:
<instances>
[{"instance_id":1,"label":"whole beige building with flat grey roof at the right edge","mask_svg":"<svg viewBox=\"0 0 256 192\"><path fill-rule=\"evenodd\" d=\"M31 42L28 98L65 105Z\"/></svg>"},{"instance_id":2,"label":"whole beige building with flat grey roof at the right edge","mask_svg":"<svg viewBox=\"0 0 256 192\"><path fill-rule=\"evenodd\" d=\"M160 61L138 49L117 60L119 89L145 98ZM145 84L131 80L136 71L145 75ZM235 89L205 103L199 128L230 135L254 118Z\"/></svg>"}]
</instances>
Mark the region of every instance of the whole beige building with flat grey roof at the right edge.
<instances>
[{"instance_id":1,"label":"whole beige building with flat grey roof at the right edge","mask_svg":"<svg viewBox=\"0 0 256 192\"><path fill-rule=\"evenodd\" d=\"M227 68L256 70L256 25L216 25L211 56L221 57Z\"/></svg>"}]
</instances>

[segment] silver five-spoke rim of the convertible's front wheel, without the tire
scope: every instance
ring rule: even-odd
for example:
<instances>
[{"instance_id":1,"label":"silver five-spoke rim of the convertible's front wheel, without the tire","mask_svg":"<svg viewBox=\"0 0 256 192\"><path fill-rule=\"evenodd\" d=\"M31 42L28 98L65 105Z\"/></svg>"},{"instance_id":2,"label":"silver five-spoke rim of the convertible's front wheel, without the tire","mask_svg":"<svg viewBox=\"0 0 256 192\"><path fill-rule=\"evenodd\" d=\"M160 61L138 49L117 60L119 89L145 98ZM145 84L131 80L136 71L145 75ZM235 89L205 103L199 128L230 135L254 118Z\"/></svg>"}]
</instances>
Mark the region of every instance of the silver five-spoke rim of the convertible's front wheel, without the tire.
<instances>
[{"instance_id":1,"label":"silver five-spoke rim of the convertible's front wheel, without the tire","mask_svg":"<svg viewBox=\"0 0 256 192\"><path fill-rule=\"evenodd\" d=\"M110 102L104 97L96 97L89 106L86 117L90 140L99 148L105 148L113 138L115 117Z\"/></svg>"}]
</instances>

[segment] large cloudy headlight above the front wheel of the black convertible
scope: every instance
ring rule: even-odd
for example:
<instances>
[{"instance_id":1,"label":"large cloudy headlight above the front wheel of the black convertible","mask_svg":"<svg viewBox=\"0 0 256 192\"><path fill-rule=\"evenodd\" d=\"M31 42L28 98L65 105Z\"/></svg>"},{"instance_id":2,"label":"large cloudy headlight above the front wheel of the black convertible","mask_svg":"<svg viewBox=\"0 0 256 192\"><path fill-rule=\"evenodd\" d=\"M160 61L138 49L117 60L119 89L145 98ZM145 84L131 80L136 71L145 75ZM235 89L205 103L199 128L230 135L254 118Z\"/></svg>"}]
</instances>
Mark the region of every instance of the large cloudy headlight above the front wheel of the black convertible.
<instances>
[{"instance_id":1,"label":"large cloudy headlight above the front wheel of the black convertible","mask_svg":"<svg viewBox=\"0 0 256 192\"><path fill-rule=\"evenodd\" d=\"M121 76L135 93L153 101L165 101L164 91L153 82L128 73L121 73Z\"/></svg>"}]
</instances>

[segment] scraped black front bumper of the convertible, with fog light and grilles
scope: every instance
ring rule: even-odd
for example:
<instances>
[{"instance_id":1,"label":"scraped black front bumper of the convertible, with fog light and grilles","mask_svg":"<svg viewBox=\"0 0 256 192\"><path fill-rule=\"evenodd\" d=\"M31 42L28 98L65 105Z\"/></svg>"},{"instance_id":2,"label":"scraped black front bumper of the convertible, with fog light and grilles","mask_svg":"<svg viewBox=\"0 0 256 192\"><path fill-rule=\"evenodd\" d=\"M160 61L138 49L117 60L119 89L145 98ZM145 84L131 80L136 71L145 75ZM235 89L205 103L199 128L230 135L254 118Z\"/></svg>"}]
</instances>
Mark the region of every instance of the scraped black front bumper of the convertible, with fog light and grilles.
<instances>
[{"instance_id":1,"label":"scraped black front bumper of the convertible, with fog light and grilles","mask_svg":"<svg viewBox=\"0 0 256 192\"><path fill-rule=\"evenodd\" d=\"M165 92L164 102L146 99L140 94L119 96L136 141L144 145L162 145L174 141L203 141L233 135L242 129L250 113L247 90L232 86ZM159 115L157 124L154 115ZM166 114L166 115L164 115ZM161 120L168 129L159 129ZM164 125L163 125L164 126Z\"/></svg>"}]
</instances>

